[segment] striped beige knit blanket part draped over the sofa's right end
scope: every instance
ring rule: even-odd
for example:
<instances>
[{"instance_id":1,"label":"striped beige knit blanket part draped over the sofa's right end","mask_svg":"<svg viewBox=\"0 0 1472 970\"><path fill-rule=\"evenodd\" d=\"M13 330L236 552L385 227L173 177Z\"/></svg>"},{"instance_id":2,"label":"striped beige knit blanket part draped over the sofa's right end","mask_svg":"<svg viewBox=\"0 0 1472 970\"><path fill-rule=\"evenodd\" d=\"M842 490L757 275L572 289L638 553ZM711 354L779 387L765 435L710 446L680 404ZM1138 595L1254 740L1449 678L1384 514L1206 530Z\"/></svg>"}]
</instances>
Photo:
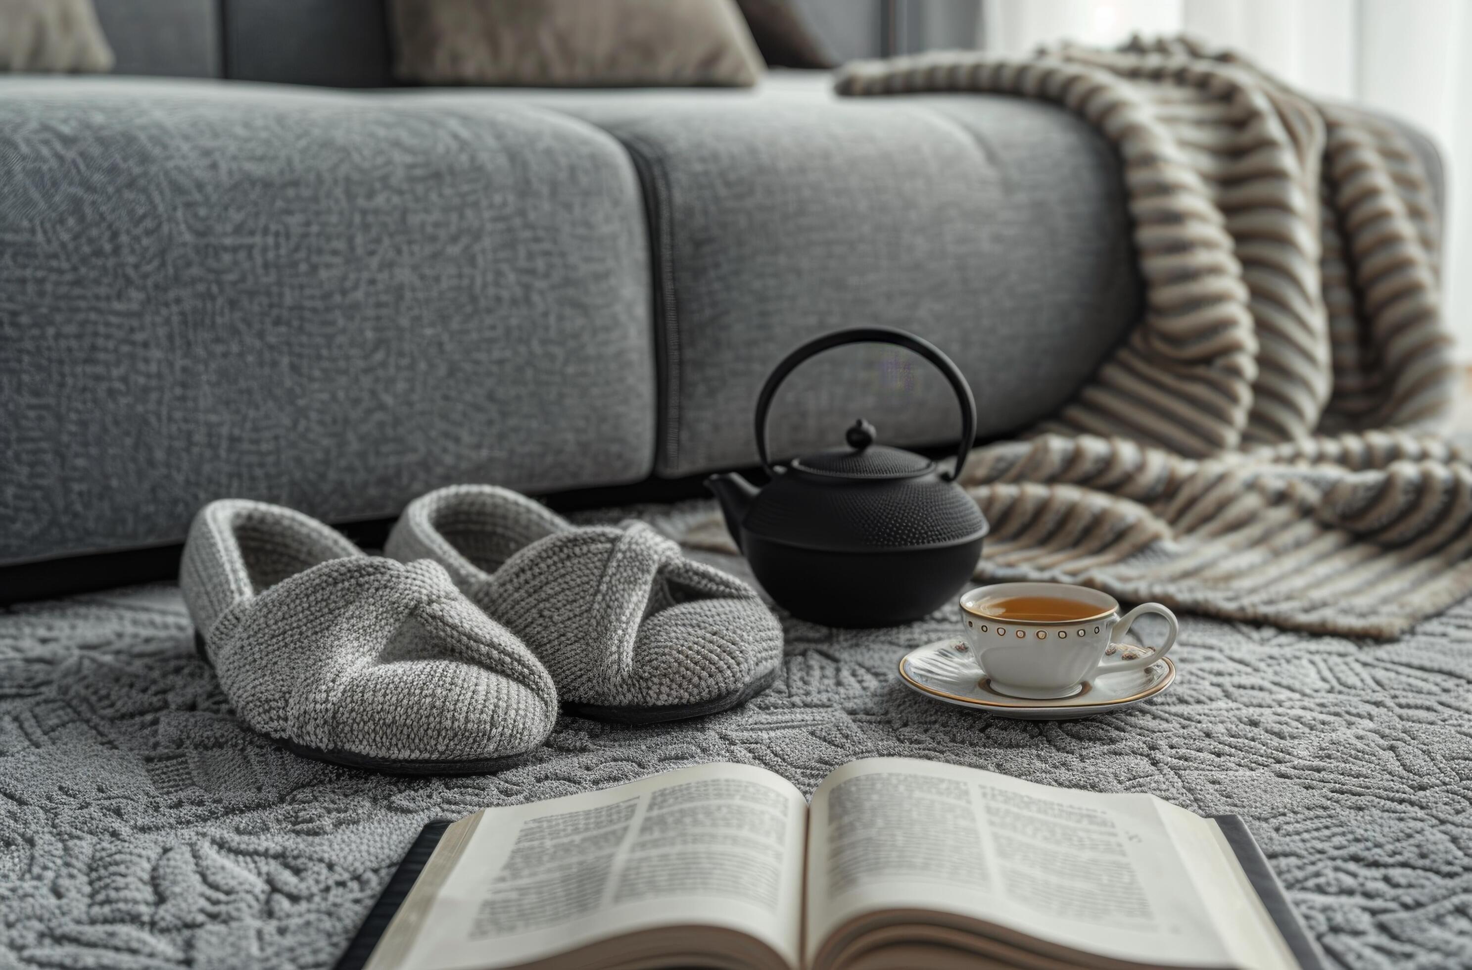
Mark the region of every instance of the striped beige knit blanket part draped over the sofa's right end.
<instances>
[{"instance_id":1,"label":"striped beige knit blanket part draped over the sofa's right end","mask_svg":"<svg viewBox=\"0 0 1472 970\"><path fill-rule=\"evenodd\" d=\"M1145 315L1039 431L1200 458L1447 414L1431 191L1404 140L1366 115L1179 38L858 62L838 90L1036 97L1119 150Z\"/></svg>"}]
</instances>

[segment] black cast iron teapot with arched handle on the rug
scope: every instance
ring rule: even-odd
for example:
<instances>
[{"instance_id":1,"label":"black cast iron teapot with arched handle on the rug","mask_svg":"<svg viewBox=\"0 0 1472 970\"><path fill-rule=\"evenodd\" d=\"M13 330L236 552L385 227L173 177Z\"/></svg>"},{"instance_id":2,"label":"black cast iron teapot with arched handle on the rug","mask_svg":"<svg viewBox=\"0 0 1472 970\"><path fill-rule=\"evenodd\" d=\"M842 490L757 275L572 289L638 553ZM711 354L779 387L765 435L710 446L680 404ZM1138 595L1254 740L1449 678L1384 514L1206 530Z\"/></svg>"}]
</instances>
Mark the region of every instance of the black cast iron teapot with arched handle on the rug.
<instances>
[{"instance_id":1,"label":"black cast iron teapot with arched handle on the rug","mask_svg":"<svg viewBox=\"0 0 1472 970\"><path fill-rule=\"evenodd\" d=\"M955 468L874 445L863 418L845 433L848 447L773 465L767 409L782 381L815 353L868 341L914 350L951 381L961 405ZM789 353L757 397L757 450L771 483L758 490L724 474L705 484L752 573L793 615L835 627L907 623L954 599L982 555L986 518L955 483L974 433L972 389L935 344L889 327L841 330Z\"/></svg>"}]
</instances>

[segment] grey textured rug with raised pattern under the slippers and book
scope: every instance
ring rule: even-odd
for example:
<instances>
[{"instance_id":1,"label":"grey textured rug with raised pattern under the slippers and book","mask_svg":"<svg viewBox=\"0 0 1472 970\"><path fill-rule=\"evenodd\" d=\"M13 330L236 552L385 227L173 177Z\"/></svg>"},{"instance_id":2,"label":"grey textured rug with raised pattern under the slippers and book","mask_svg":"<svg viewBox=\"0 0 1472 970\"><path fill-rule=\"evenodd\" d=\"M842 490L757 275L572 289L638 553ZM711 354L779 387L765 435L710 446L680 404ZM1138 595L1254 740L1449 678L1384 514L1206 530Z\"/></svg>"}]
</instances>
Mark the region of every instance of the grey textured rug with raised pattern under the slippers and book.
<instances>
[{"instance_id":1,"label":"grey textured rug with raised pattern under the slippers and book","mask_svg":"<svg viewBox=\"0 0 1472 970\"><path fill-rule=\"evenodd\" d=\"M743 709L659 729L564 718L526 767L414 780L246 730L171 586L12 608L0 967L331 966L430 818L715 760L811 790L870 755L1238 813L1332 961L1472 966L1472 603L1388 643L1185 618L1175 687L1072 723L902 689L899 656L952 624L785 620L785 676Z\"/></svg>"}]
</instances>

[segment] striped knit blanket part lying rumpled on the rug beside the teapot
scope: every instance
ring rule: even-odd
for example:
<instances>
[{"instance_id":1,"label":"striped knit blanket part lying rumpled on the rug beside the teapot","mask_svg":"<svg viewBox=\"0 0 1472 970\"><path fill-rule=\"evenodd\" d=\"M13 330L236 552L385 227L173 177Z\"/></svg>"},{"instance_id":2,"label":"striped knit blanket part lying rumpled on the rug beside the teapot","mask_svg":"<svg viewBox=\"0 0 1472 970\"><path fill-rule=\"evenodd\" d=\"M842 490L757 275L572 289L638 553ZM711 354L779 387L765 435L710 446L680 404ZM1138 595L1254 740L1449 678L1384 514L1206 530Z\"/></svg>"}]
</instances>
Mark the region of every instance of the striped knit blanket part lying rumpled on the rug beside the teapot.
<instances>
[{"instance_id":1,"label":"striped knit blanket part lying rumpled on the rug beside the teapot","mask_svg":"<svg viewBox=\"0 0 1472 970\"><path fill-rule=\"evenodd\" d=\"M1395 431L1209 459L1045 434L972 452L977 581L1079 583L1234 621L1394 637L1472 593L1472 459ZM736 551L718 514L689 546Z\"/></svg>"}]
</instances>

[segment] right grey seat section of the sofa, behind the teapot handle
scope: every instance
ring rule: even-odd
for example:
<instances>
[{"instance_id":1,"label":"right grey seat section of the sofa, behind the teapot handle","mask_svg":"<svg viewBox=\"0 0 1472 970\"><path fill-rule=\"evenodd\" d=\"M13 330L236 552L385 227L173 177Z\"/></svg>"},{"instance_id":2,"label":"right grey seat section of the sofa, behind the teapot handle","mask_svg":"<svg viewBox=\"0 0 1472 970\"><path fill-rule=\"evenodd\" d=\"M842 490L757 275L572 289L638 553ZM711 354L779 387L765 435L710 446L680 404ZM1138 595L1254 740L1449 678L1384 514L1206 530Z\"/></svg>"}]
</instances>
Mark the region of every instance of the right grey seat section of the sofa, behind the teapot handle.
<instances>
[{"instance_id":1,"label":"right grey seat section of the sofa, behind the teapot handle","mask_svg":"<svg viewBox=\"0 0 1472 970\"><path fill-rule=\"evenodd\" d=\"M640 168L661 474L755 464L757 393L820 333L892 325L932 340L972 384L977 433L998 436L1063 405L1139 316L1119 165L1085 122L1008 97L835 103L824 82L789 72L754 97L521 96L608 130ZM839 446L855 417L886 443L960 430L923 361L848 347L783 386L773 449Z\"/></svg>"}]
</instances>

